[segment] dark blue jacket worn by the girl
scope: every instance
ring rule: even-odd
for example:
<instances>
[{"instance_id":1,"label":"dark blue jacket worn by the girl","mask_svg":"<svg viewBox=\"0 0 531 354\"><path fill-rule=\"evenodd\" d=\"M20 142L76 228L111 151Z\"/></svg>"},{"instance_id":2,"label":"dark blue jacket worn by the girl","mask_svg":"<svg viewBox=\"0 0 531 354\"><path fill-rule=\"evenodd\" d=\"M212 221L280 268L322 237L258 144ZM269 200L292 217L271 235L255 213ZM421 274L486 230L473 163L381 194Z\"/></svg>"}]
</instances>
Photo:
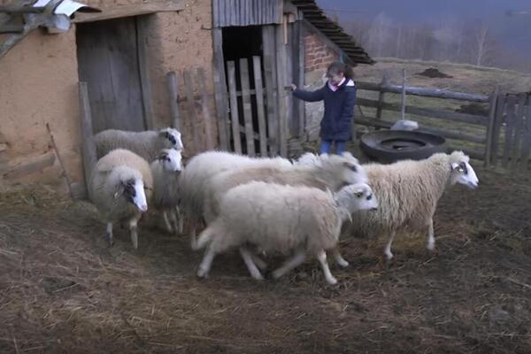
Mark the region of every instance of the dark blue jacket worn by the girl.
<instances>
[{"instance_id":1,"label":"dark blue jacket worn by the girl","mask_svg":"<svg viewBox=\"0 0 531 354\"><path fill-rule=\"evenodd\" d=\"M351 80L345 80L334 91L324 87L316 91L296 89L293 96L308 102L325 101L325 115L320 122L319 136L322 140L346 142L352 139L352 120L356 104L356 86Z\"/></svg>"}]
</instances>

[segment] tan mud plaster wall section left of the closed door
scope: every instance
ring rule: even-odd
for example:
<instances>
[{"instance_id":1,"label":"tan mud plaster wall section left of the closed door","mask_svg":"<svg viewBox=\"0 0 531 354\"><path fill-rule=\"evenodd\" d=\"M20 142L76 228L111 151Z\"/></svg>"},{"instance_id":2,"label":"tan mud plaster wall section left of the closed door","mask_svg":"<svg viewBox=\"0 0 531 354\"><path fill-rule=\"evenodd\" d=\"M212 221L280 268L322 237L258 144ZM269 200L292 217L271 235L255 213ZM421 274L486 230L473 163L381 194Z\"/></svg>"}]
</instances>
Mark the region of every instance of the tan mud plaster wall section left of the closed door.
<instances>
[{"instance_id":1,"label":"tan mud plaster wall section left of the closed door","mask_svg":"<svg viewBox=\"0 0 531 354\"><path fill-rule=\"evenodd\" d=\"M39 181L66 191L46 123L68 173L81 180L77 81L73 31L37 30L0 58L0 187ZM36 173L18 170L27 164L49 166Z\"/></svg>"}]
</instances>

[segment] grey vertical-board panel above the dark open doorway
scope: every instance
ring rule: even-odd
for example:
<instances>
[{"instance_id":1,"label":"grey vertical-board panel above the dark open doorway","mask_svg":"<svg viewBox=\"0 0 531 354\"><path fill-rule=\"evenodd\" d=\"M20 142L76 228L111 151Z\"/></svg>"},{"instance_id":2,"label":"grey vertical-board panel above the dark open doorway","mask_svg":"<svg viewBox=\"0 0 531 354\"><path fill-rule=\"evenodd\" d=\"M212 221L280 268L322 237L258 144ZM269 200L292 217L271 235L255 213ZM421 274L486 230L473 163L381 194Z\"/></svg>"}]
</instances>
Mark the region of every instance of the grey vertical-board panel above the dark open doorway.
<instances>
[{"instance_id":1,"label":"grey vertical-board panel above the dark open doorway","mask_svg":"<svg viewBox=\"0 0 531 354\"><path fill-rule=\"evenodd\" d=\"M282 0L212 0L213 27L280 24Z\"/></svg>"}]
</instances>

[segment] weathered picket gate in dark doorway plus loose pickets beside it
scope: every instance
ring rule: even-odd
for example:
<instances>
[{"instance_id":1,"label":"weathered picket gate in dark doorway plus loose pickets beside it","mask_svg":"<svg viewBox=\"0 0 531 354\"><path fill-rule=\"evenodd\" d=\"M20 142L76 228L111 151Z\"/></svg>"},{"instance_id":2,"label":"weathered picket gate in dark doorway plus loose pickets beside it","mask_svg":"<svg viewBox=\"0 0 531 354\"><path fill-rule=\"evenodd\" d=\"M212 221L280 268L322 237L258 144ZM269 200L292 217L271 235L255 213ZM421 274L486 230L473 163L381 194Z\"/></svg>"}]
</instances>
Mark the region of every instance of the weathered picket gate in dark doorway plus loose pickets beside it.
<instances>
[{"instance_id":1,"label":"weathered picket gate in dark doorway plus loose pickets beside it","mask_svg":"<svg viewBox=\"0 0 531 354\"><path fill-rule=\"evenodd\" d=\"M286 109L279 97L286 97L285 88L277 89L273 74L273 67L267 60L262 63L260 57L240 58L237 61L227 61L227 87L223 92L214 96L218 117L219 136L212 136L208 129L211 126L208 99L212 95L204 93L204 87L199 87L198 96L194 96L192 75L188 71L182 73L184 78L185 93L180 94L179 78L176 73L168 73L168 89L171 99L171 112L173 127L181 127L180 104L186 107L189 117L196 117L195 101L200 101L201 112L204 117L203 132L198 127L196 119L193 122L194 149L196 151L210 150L215 139L219 137L219 147L236 153L245 153L249 156L275 156L277 153L286 155L287 129ZM204 82L203 69L197 69L197 82ZM220 86L219 82L216 86ZM227 104L228 103L228 104ZM282 114L283 112L283 114ZM204 133L206 146L199 141L199 136Z\"/></svg>"}]
</instances>

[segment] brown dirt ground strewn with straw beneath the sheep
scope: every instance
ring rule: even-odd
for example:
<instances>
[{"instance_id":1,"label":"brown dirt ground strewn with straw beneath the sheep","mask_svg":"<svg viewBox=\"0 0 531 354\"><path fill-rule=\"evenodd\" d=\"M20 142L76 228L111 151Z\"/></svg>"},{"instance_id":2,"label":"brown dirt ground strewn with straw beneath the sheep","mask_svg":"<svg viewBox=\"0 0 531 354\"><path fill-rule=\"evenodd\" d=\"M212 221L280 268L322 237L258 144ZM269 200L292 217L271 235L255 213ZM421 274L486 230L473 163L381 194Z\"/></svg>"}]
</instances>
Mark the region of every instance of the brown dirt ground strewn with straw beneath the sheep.
<instances>
[{"instance_id":1,"label":"brown dirt ground strewn with straw beneath the sheep","mask_svg":"<svg viewBox=\"0 0 531 354\"><path fill-rule=\"evenodd\" d=\"M0 196L2 353L529 353L529 177L477 168L450 189L423 236L342 242L328 286L316 262L252 281L235 254L196 279L189 237L150 217L140 247L108 248L91 205L46 190ZM273 263L273 260L272 260Z\"/></svg>"}]
</instances>

